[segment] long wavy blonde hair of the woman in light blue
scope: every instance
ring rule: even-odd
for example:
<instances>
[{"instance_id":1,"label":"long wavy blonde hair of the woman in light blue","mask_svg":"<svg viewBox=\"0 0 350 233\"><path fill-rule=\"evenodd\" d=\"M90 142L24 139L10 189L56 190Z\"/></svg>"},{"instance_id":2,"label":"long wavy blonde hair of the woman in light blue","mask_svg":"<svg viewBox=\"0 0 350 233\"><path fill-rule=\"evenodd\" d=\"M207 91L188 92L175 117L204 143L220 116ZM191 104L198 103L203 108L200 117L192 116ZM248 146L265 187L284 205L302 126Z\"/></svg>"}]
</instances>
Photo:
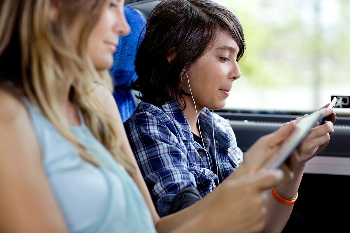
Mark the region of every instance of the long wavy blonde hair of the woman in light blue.
<instances>
[{"instance_id":1,"label":"long wavy blonde hair of the woman in light blue","mask_svg":"<svg viewBox=\"0 0 350 233\"><path fill-rule=\"evenodd\" d=\"M120 135L112 118L98 101L93 83L101 83L112 90L108 71L97 72L86 54L87 38L98 22L107 1L98 0L4 0L0 14L0 57L20 47L18 68L22 77L16 86L21 88L32 104L54 124L63 137L71 141L83 159L99 165L72 133L66 117L59 108L59 96L69 88L66 75L74 77L70 100L82 111L86 125L94 137L129 173L134 171L120 151ZM59 9L57 20L50 20L52 5ZM70 35L77 16L83 17L78 38ZM19 44L13 44L18 34ZM14 42L11 42L13 39ZM77 43L78 42L78 43ZM15 51L15 50L14 50ZM1 67L3 69L3 67ZM3 78L2 78L3 79ZM0 79L0 84L1 84ZM8 81L8 80L5 80Z\"/></svg>"}]
</instances>

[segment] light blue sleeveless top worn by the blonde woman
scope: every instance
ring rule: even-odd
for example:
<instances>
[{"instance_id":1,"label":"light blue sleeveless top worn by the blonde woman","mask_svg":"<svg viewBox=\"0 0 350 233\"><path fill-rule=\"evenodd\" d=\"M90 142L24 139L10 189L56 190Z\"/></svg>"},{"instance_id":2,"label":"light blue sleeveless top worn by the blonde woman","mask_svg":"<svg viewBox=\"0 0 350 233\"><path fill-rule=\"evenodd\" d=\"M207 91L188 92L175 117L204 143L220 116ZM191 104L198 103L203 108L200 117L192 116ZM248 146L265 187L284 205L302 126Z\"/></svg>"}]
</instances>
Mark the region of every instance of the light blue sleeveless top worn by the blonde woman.
<instances>
[{"instance_id":1,"label":"light blue sleeveless top worn by the blonde woman","mask_svg":"<svg viewBox=\"0 0 350 233\"><path fill-rule=\"evenodd\" d=\"M156 232L136 184L93 137L80 112L82 125L71 129L103 166L83 160L55 126L25 102L41 146L44 171L70 232Z\"/></svg>"}]
</instances>

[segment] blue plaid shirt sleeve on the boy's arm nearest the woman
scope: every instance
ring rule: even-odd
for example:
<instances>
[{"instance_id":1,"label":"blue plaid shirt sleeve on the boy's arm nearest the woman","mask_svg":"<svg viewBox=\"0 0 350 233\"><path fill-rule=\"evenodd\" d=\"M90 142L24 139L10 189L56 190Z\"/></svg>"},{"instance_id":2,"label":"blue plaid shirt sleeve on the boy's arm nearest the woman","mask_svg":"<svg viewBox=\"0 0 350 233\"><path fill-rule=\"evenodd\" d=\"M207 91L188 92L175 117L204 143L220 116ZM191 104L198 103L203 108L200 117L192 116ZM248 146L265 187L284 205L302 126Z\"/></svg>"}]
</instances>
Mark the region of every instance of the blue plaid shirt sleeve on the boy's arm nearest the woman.
<instances>
[{"instance_id":1,"label":"blue plaid shirt sleeve on the boy's arm nearest the woman","mask_svg":"<svg viewBox=\"0 0 350 233\"><path fill-rule=\"evenodd\" d=\"M149 112L126 121L125 130L158 213L166 216L180 190L197 186L189 172L186 148L165 123Z\"/></svg>"}]
</instances>

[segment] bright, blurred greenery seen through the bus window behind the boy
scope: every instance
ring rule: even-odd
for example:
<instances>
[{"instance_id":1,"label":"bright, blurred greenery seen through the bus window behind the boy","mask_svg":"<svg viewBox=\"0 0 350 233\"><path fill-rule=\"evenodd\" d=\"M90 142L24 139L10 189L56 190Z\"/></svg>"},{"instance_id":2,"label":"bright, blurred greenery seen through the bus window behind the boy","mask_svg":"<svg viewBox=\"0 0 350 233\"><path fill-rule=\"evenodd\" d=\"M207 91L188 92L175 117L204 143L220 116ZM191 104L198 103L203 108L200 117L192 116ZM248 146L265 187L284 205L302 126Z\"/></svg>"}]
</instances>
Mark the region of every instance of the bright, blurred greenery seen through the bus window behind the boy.
<instances>
[{"instance_id":1,"label":"bright, blurred greenery seen through the bus window behind the boy","mask_svg":"<svg viewBox=\"0 0 350 233\"><path fill-rule=\"evenodd\" d=\"M225 109L311 112L350 96L350 1L216 2L237 15L247 46Z\"/></svg>"}]
</instances>

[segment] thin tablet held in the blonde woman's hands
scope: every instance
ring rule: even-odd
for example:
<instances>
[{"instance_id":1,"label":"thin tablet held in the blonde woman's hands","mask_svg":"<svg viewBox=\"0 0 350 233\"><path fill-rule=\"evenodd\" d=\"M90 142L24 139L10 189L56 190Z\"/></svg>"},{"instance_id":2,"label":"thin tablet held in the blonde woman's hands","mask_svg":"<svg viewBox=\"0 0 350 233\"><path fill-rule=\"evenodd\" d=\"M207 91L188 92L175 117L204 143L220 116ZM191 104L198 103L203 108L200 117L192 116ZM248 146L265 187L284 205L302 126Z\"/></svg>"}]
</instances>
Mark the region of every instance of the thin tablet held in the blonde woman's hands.
<instances>
[{"instance_id":1,"label":"thin tablet held in the blonde woman's hands","mask_svg":"<svg viewBox=\"0 0 350 233\"><path fill-rule=\"evenodd\" d=\"M281 143L280 147L262 167L268 170L279 168L300 142L308 135L313 126L321 119L323 112L323 110L314 112L297 123L294 131Z\"/></svg>"}]
</instances>

